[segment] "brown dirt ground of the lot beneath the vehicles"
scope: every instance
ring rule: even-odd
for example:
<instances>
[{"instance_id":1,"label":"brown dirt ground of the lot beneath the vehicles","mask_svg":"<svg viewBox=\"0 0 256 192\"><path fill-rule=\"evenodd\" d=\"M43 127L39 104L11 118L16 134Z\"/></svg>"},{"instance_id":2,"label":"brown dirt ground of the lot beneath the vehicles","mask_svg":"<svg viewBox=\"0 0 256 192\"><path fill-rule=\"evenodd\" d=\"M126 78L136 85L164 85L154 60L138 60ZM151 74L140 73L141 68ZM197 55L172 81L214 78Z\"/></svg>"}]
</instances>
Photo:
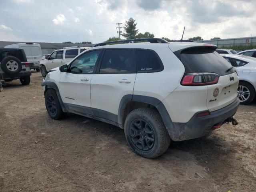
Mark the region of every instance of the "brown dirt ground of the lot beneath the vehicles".
<instances>
[{"instance_id":1,"label":"brown dirt ground of the lot beneath the vehicles","mask_svg":"<svg viewBox=\"0 0 256 192\"><path fill-rule=\"evenodd\" d=\"M52 120L40 72L0 92L0 192L252 192L256 190L256 102L238 126L171 142L154 160L132 152L116 126L71 114Z\"/></svg>"}]
</instances>

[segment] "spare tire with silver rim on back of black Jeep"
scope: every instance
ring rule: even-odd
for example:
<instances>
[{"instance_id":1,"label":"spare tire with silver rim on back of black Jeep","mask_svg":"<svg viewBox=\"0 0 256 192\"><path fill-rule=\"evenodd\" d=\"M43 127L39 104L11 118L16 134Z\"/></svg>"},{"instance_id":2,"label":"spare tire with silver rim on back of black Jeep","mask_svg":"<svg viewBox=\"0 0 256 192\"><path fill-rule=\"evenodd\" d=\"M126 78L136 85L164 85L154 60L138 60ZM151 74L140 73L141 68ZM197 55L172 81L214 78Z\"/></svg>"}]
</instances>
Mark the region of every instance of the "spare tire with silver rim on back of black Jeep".
<instances>
[{"instance_id":1,"label":"spare tire with silver rim on back of black Jeep","mask_svg":"<svg viewBox=\"0 0 256 192\"><path fill-rule=\"evenodd\" d=\"M18 58L9 56L2 60L1 68L6 74L15 75L22 70L22 63Z\"/></svg>"}]
</instances>

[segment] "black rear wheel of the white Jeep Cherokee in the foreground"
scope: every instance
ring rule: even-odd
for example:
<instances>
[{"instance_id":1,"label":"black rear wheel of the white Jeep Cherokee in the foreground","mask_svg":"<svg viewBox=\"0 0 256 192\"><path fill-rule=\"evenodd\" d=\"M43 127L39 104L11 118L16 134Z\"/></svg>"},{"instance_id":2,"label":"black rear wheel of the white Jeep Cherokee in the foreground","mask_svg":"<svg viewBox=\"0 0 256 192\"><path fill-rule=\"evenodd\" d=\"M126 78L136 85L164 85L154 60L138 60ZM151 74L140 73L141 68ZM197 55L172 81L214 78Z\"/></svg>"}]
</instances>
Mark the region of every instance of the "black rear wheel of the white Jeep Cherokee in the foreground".
<instances>
[{"instance_id":1,"label":"black rear wheel of the white Jeep Cherokee in the foreground","mask_svg":"<svg viewBox=\"0 0 256 192\"><path fill-rule=\"evenodd\" d=\"M151 108L138 108L130 112L124 123L129 146L146 158L162 155L170 146L170 136L158 112Z\"/></svg>"}]
</instances>

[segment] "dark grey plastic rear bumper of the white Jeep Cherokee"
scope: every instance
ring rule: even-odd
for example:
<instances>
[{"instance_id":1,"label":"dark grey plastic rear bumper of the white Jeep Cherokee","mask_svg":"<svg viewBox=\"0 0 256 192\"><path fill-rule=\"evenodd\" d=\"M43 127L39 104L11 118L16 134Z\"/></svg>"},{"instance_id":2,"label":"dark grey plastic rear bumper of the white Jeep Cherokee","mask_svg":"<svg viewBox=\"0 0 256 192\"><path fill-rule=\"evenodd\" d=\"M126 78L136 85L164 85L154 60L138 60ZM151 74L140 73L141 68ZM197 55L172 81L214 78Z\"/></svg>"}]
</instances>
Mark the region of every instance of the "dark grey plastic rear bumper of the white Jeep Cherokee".
<instances>
[{"instance_id":1,"label":"dark grey plastic rear bumper of the white Jeep Cherokee","mask_svg":"<svg viewBox=\"0 0 256 192\"><path fill-rule=\"evenodd\" d=\"M187 123L173 123L174 132L171 138L174 141L189 140L202 137L214 130L213 126L224 124L237 111L240 100L237 98L233 103L219 110L213 111L208 116L198 117L195 114Z\"/></svg>"}]
</instances>

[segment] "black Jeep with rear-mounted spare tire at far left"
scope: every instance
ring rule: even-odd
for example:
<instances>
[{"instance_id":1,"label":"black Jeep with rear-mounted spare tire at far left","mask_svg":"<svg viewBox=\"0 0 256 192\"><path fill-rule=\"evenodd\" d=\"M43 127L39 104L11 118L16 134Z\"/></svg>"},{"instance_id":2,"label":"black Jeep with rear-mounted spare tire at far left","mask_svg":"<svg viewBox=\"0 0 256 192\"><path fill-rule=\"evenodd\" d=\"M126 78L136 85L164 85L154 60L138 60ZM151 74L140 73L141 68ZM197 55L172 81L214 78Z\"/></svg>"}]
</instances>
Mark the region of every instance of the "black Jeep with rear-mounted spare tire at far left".
<instances>
[{"instance_id":1,"label":"black Jeep with rear-mounted spare tire at far left","mask_svg":"<svg viewBox=\"0 0 256 192\"><path fill-rule=\"evenodd\" d=\"M23 49L0 48L0 80L10 82L20 79L23 85L30 83L30 68Z\"/></svg>"}]
</instances>

